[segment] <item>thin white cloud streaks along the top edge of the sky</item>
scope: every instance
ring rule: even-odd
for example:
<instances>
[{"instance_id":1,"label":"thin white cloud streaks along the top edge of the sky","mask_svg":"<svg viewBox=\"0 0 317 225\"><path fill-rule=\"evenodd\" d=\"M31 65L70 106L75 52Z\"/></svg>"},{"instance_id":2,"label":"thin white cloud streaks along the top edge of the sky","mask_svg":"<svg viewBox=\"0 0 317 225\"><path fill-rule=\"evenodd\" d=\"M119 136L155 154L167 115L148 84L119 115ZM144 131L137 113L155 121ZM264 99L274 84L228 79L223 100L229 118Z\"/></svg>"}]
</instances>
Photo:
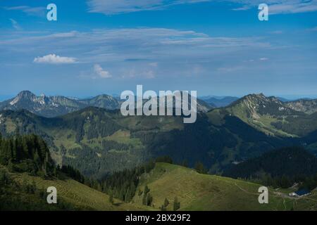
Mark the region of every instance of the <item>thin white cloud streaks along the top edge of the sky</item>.
<instances>
[{"instance_id":1,"label":"thin white cloud streaks along the top edge of the sky","mask_svg":"<svg viewBox=\"0 0 317 225\"><path fill-rule=\"evenodd\" d=\"M89 12L106 15L132 13L136 11L162 10L179 4L195 4L213 0L88 0ZM263 0L224 0L240 5L235 11L257 8ZM266 0L271 14L304 13L317 11L317 0Z\"/></svg>"}]
</instances>

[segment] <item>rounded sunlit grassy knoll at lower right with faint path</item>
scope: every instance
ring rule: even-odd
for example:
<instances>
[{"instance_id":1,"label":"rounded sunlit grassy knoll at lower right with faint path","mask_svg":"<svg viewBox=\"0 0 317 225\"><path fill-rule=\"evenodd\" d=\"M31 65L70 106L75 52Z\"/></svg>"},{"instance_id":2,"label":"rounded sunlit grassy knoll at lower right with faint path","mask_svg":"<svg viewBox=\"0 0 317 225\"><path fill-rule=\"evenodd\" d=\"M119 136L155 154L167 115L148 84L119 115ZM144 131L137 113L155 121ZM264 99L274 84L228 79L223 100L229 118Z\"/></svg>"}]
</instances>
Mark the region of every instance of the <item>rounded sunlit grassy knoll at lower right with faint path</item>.
<instances>
[{"instance_id":1,"label":"rounded sunlit grassy knoll at lower right with faint path","mask_svg":"<svg viewBox=\"0 0 317 225\"><path fill-rule=\"evenodd\" d=\"M142 177L139 190L148 186L153 197L153 207L158 210L165 198L173 209L175 196L180 210L316 210L317 193L306 198L288 198L285 193L292 190L269 189L269 203L259 204L259 184L249 183L221 176L198 174L192 169L157 163L156 167ZM142 204L142 195L136 195L134 202Z\"/></svg>"}]
</instances>

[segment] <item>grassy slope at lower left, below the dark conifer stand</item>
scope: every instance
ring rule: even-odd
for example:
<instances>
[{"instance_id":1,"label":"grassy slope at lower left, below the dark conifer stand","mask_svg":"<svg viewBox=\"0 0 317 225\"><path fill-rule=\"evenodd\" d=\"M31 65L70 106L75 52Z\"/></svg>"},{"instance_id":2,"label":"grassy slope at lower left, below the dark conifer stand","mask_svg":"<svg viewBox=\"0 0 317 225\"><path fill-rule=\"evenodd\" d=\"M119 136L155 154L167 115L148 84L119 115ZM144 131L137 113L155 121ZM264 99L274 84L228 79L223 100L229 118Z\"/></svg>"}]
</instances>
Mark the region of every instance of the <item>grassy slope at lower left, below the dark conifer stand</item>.
<instances>
[{"instance_id":1,"label":"grassy slope at lower left, below the dark conifer stand","mask_svg":"<svg viewBox=\"0 0 317 225\"><path fill-rule=\"evenodd\" d=\"M114 199L113 204L109 202L109 196L105 193L96 191L84 184L81 184L67 176L63 179L42 179L39 176L30 176L26 173L8 172L3 166L0 166L0 172L6 172L10 179L25 188L26 185L35 184L37 190L46 191L49 186L57 189L57 205L49 205L46 203L45 196L39 198L36 193L25 193L23 191L15 191L12 188L6 188L6 195L1 196L6 200L14 199L15 203L23 206L15 206L15 209L32 209L32 210L98 210L98 211L123 211L123 210L148 210L143 205L132 205L130 203L122 203ZM13 183L11 181L11 184ZM10 193L8 195L8 193ZM17 201L18 200L18 201ZM61 206L61 203L63 204ZM14 204L14 203L13 203ZM1 203L0 203L1 208Z\"/></svg>"}]
</instances>

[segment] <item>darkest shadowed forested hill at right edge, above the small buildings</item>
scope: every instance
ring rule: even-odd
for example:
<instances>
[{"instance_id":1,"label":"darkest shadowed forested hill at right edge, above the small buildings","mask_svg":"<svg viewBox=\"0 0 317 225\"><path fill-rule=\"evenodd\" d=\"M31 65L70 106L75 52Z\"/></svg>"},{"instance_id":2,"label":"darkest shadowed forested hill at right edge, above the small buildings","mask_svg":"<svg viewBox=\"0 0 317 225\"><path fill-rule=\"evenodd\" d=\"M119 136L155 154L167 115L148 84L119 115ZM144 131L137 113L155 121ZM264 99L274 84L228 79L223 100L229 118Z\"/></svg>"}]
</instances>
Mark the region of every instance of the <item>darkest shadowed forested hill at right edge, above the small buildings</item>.
<instances>
[{"instance_id":1,"label":"darkest shadowed forested hill at right edge, above the small buildings","mask_svg":"<svg viewBox=\"0 0 317 225\"><path fill-rule=\"evenodd\" d=\"M317 186L317 158L302 147L271 150L226 169L223 176L258 180L266 186L289 188L295 183L313 190Z\"/></svg>"}]
</instances>

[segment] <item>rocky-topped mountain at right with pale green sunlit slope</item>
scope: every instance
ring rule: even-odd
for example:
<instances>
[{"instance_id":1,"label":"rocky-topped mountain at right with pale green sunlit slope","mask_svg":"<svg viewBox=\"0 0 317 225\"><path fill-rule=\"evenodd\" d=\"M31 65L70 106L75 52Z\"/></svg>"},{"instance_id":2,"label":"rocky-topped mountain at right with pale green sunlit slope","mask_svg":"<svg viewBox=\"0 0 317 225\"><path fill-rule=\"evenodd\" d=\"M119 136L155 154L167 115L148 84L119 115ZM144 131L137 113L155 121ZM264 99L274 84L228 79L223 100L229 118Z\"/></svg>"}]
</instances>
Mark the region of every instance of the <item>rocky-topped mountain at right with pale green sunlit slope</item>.
<instances>
[{"instance_id":1,"label":"rocky-topped mountain at right with pale green sunlit slope","mask_svg":"<svg viewBox=\"0 0 317 225\"><path fill-rule=\"evenodd\" d=\"M211 110L208 115L220 124L223 117L235 116L272 136L305 136L317 129L317 113L309 115L294 110L278 98L266 97L263 94L244 96L228 107Z\"/></svg>"}]
</instances>

